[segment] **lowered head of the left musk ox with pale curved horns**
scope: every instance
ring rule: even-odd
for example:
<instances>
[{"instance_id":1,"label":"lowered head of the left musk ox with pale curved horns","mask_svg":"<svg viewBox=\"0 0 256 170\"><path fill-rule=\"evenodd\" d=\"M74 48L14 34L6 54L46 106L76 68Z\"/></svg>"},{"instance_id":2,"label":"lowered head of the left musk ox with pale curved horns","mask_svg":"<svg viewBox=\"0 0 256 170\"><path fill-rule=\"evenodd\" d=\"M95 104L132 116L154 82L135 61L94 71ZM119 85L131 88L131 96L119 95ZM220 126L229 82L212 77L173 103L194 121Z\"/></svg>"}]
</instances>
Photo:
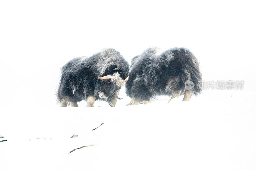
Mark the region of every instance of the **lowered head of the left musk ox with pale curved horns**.
<instances>
[{"instance_id":1,"label":"lowered head of the left musk ox with pale curved horns","mask_svg":"<svg viewBox=\"0 0 256 170\"><path fill-rule=\"evenodd\" d=\"M95 93L100 99L109 100L110 97L115 96L117 99L119 90L124 85L124 82L128 81L129 77L123 80L119 73L113 73L112 75L107 75L100 77L98 76L98 83L95 86Z\"/></svg>"}]
</instances>

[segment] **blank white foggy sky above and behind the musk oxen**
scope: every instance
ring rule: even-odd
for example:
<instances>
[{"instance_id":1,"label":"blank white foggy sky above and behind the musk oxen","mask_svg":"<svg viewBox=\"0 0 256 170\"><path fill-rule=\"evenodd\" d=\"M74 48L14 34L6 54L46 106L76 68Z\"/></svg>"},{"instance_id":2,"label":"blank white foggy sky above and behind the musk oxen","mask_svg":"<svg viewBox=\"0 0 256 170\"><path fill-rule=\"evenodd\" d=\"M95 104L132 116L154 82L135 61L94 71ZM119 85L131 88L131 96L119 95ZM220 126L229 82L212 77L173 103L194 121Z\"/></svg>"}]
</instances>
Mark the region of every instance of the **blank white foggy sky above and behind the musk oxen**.
<instances>
[{"instance_id":1,"label":"blank white foggy sky above and behind the musk oxen","mask_svg":"<svg viewBox=\"0 0 256 170\"><path fill-rule=\"evenodd\" d=\"M251 1L2 1L0 23L4 106L53 104L60 68L107 47L128 62L149 46L186 47L204 80L255 83Z\"/></svg>"}]
</instances>

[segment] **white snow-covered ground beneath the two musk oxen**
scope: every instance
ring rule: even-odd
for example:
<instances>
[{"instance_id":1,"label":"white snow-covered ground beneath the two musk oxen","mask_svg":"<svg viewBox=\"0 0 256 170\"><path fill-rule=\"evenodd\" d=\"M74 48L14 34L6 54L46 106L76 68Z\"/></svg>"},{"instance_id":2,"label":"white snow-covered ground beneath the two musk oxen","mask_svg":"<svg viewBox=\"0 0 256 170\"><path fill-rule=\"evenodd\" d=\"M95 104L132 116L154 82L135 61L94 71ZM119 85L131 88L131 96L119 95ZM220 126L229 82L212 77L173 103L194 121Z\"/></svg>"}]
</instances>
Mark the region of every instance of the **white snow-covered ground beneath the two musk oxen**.
<instances>
[{"instance_id":1,"label":"white snow-covered ground beneath the two musk oxen","mask_svg":"<svg viewBox=\"0 0 256 170\"><path fill-rule=\"evenodd\" d=\"M168 99L5 110L1 169L256 168L255 96L204 90L191 101ZM92 146L69 153L84 145Z\"/></svg>"}]
</instances>

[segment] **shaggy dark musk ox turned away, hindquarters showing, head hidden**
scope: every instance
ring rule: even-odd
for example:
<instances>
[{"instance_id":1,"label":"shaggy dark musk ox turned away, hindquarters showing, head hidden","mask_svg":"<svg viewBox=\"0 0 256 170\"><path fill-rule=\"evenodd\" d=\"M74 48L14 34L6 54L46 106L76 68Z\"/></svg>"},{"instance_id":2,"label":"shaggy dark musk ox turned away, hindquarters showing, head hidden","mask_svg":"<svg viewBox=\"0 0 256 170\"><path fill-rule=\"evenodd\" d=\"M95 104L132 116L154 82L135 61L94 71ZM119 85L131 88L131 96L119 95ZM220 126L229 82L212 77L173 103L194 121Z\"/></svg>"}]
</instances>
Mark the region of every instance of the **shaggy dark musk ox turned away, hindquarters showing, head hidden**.
<instances>
[{"instance_id":1,"label":"shaggy dark musk ox turned away, hindquarters showing, head hidden","mask_svg":"<svg viewBox=\"0 0 256 170\"><path fill-rule=\"evenodd\" d=\"M201 91L201 77L199 63L188 49L171 48L160 53L159 48L148 48L132 58L125 85L126 94L132 98L128 105L147 104L156 95L170 95L172 99L184 94L183 101L190 100L192 93Z\"/></svg>"}]
</instances>

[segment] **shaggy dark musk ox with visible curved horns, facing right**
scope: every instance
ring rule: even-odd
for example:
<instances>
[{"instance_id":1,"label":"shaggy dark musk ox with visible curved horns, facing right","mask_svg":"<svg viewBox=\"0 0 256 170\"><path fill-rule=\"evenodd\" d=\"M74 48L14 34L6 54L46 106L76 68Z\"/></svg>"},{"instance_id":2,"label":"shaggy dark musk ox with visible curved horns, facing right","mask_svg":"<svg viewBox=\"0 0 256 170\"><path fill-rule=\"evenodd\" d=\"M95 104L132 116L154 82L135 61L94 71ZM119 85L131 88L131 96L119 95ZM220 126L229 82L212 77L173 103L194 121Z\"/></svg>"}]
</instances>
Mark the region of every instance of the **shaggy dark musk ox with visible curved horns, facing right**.
<instances>
[{"instance_id":1,"label":"shaggy dark musk ox with visible curved horns, facing right","mask_svg":"<svg viewBox=\"0 0 256 170\"><path fill-rule=\"evenodd\" d=\"M119 89L128 75L128 62L112 48L106 48L91 57L74 58L61 69L57 99L61 107L77 107L77 102L87 101L93 107L95 100L106 100L116 105Z\"/></svg>"}]
</instances>

